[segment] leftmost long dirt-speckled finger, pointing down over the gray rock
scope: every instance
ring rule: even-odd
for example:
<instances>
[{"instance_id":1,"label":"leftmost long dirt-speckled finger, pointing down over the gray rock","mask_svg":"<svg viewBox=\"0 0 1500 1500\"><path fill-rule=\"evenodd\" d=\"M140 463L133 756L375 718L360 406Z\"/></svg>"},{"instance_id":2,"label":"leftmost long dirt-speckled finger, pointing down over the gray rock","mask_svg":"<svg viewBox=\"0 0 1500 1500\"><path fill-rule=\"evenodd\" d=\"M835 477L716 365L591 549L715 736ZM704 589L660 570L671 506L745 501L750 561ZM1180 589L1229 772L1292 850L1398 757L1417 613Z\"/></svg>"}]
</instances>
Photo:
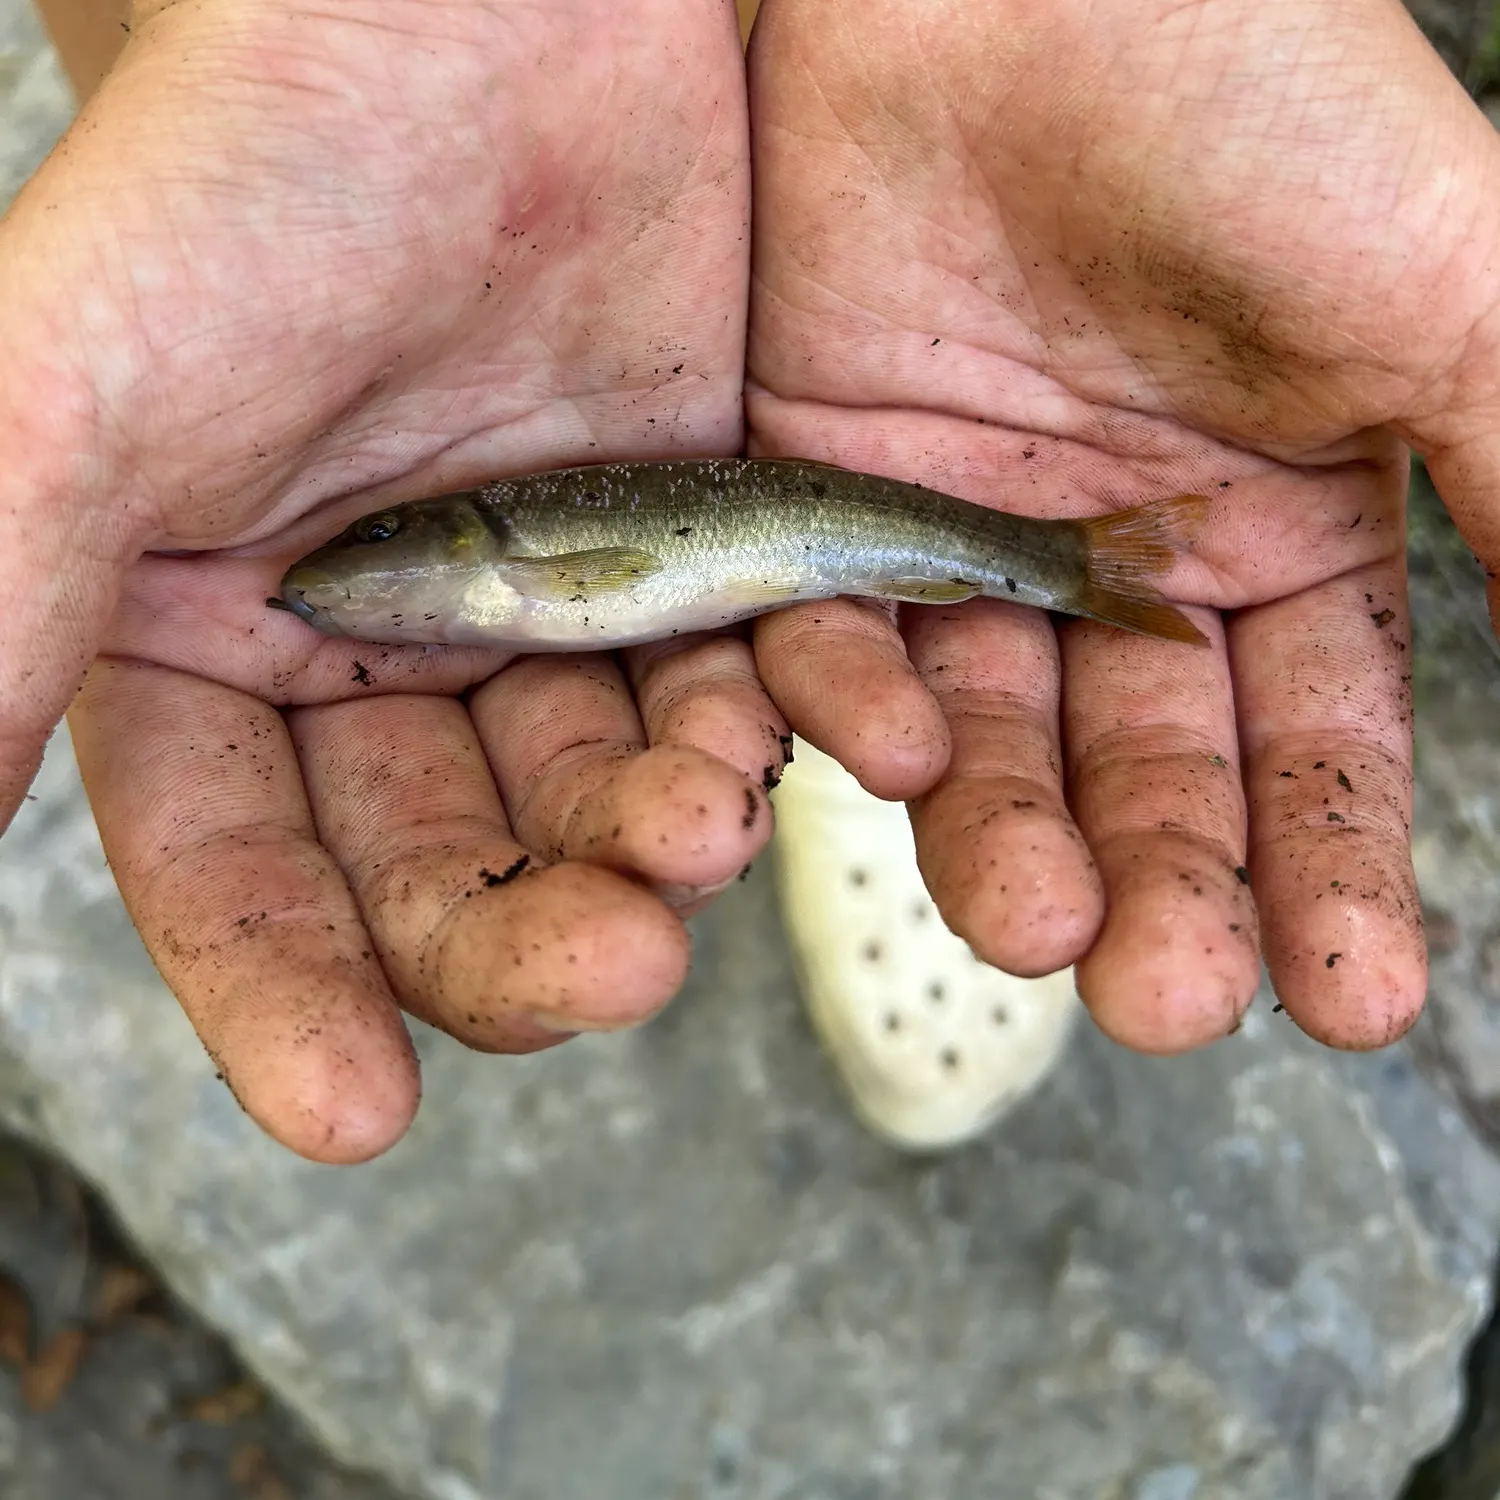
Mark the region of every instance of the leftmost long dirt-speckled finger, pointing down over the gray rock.
<instances>
[{"instance_id":1,"label":"leftmost long dirt-speckled finger, pointing down over the gray rock","mask_svg":"<svg viewBox=\"0 0 1500 1500\"><path fill-rule=\"evenodd\" d=\"M417 1060L274 708L100 660L69 714L120 894L236 1098L314 1161L406 1130Z\"/></svg>"}]
</instances>

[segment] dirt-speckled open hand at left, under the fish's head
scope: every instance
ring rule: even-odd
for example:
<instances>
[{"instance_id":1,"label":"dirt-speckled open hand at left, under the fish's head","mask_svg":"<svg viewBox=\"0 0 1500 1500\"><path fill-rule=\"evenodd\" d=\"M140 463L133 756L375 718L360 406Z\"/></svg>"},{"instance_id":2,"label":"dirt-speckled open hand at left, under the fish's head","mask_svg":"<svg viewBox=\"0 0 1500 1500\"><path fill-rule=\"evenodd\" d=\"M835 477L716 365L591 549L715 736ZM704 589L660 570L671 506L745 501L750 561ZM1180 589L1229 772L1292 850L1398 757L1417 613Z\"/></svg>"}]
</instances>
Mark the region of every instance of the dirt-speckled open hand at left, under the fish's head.
<instances>
[{"instance_id":1,"label":"dirt-speckled open hand at left, under the fish's head","mask_svg":"<svg viewBox=\"0 0 1500 1500\"><path fill-rule=\"evenodd\" d=\"M0 224L0 819L82 682L130 914L298 1152L405 1130L400 1008L498 1052L650 1014L770 834L742 639L627 680L264 608L384 500L736 452L747 201L728 0L142 0Z\"/></svg>"}]
</instances>

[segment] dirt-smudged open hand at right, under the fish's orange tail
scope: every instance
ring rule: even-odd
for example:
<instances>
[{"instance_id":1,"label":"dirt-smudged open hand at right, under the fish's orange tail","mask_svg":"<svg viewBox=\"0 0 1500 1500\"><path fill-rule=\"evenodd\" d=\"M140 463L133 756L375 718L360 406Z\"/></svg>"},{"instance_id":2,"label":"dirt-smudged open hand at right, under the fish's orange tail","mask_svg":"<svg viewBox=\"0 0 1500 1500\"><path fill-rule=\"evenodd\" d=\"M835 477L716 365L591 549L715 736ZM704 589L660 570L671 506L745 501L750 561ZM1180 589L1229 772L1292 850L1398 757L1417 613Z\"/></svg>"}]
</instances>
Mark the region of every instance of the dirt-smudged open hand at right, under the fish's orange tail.
<instances>
[{"instance_id":1,"label":"dirt-smudged open hand at right, under the fish's orange tail","mask_svg":"<svg viewBox=\"0 0 1500 1500\"><path fill-rule=\"evenodd\" d=\"M1038 514L1220 496L1166 582L1209 651L804 606L758 626L783 711L915 800L956 932L1077 960L1119 1041L1232 1030L1262 952L1314 1036L1392 1041L1402 440L1500 568L1492 129L1386 0L766 0L750 86L753 452Z\"/></svg>"}]
</instances>

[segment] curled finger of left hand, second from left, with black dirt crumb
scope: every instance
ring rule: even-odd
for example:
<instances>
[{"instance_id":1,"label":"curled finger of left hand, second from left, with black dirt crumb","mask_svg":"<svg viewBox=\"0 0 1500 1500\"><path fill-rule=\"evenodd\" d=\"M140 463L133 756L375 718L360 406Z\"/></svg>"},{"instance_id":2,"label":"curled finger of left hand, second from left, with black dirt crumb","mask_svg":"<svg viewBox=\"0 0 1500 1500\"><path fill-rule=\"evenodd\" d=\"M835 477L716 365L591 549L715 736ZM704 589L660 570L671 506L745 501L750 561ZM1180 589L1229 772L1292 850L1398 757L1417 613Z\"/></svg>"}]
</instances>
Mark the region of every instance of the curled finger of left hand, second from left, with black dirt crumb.
<instances>
[{"instance_id":1,"label":"curled finger of left hand, second from left, with black dirt crumb","mask_svg":"<svg viewBox=\"0 0 1500 1500\"><path fill-rule=\"evenodd\" d=\"M530 1052L634 1024L676 992L681 922L609 870L534 858L462 704L390 696L288 722L318 832L412 1014L471 1047Z\"/></svg>"}]
</instances>

